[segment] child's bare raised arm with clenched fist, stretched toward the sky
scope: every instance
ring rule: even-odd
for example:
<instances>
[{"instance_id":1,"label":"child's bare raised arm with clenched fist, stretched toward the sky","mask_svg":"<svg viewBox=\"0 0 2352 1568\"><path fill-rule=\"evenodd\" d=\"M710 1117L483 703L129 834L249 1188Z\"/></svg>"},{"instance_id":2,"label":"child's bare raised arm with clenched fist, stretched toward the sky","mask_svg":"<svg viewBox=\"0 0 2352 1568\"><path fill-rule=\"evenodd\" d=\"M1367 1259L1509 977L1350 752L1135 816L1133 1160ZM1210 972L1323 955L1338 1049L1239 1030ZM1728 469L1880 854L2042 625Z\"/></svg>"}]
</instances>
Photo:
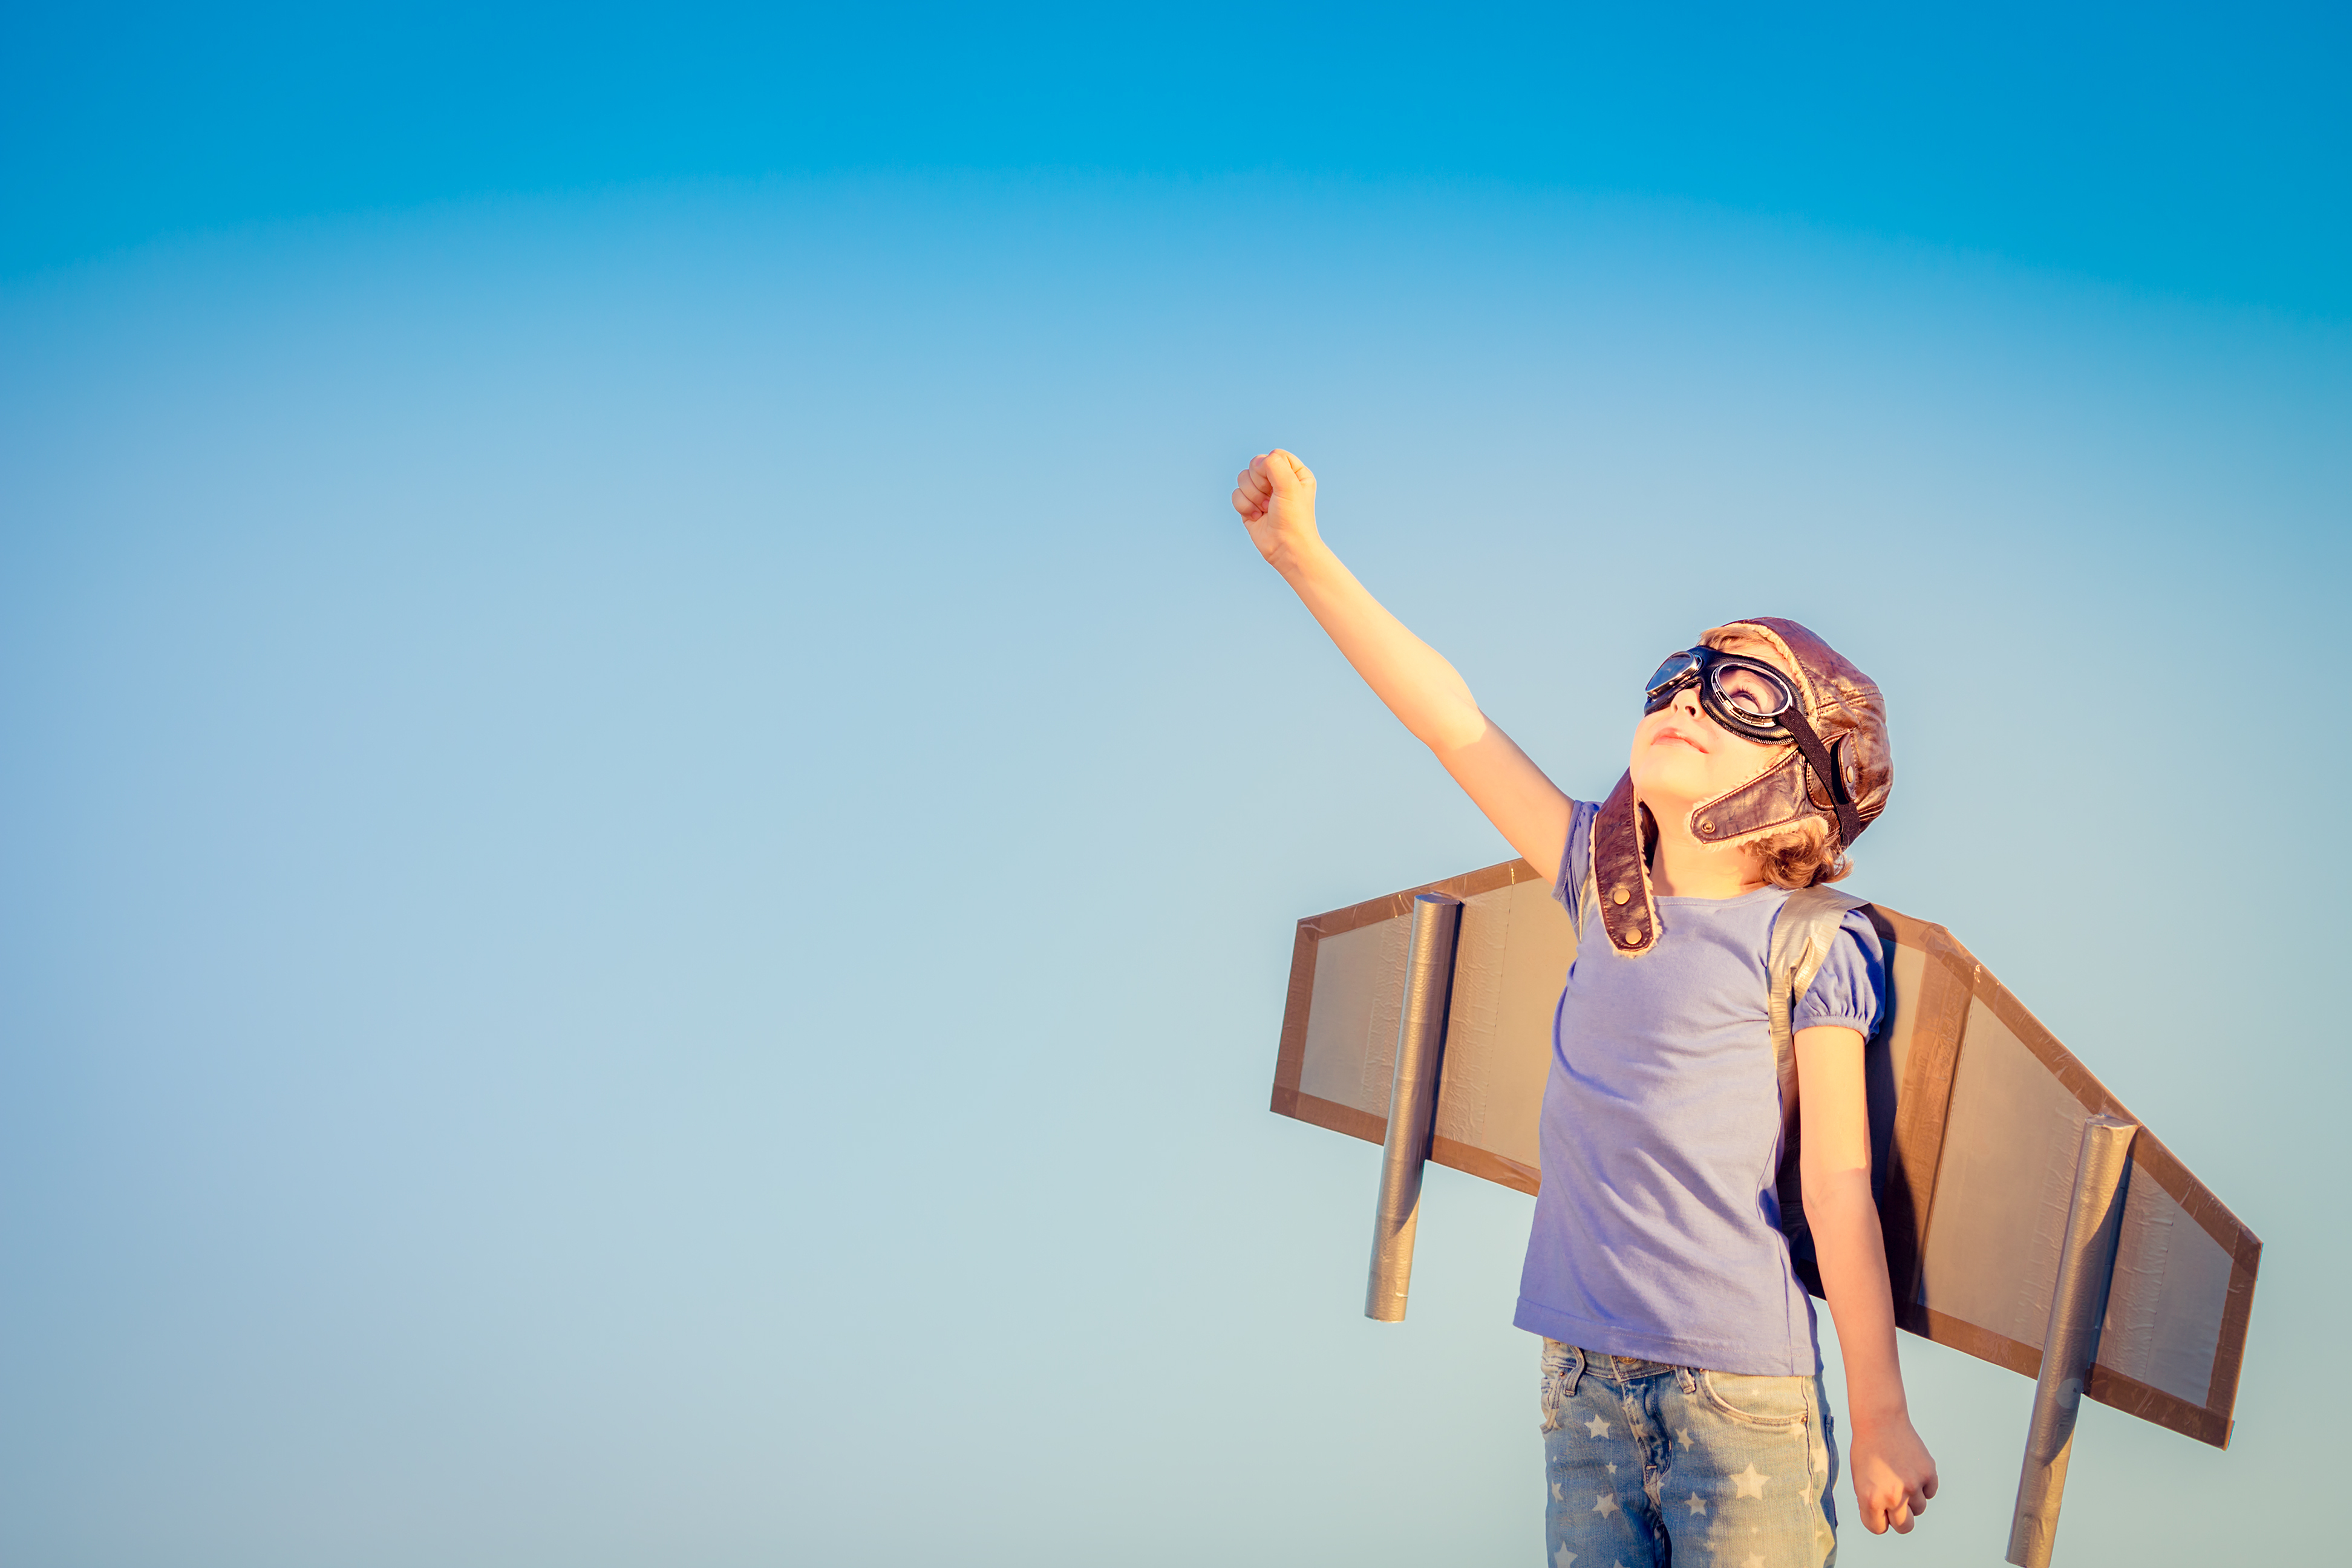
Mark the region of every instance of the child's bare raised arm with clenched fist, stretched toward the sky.
<instances>
[{"instance_id":1,"label":"child's bare raised arm with clenched fist, stretched toward the sky","mask_svg":"<svg viewBox=\"0 0 2352 1568\"><path fill-rule=\"evenodd\" d=\"M1545 877L1569 846L1569 797L1479 712L1463 677L1371 597L1315 531L1315 475L1279 447L1242 470L1232 510L1338 651Z\"/></svg>"}]
</instances>

